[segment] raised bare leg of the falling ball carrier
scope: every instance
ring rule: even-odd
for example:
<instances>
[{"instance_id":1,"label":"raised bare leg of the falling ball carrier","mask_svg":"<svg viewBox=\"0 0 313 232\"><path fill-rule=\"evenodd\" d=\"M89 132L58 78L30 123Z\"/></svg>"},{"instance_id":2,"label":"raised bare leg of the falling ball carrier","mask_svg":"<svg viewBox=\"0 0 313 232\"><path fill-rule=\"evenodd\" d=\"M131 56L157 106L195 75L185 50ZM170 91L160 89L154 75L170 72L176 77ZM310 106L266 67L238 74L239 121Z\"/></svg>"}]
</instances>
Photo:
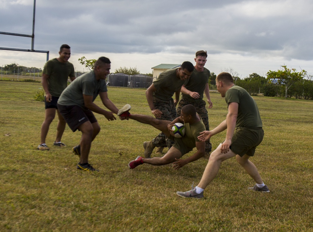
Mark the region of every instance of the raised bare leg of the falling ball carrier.
<instances>
[{"instance_id":1,"label":"raised bare leg of the falling ball carrier","mask_svg":"<svg viewBox=\"0 0 313 232\"><path fill-rule=\"evenodd\" d=\"M143 114L131 114L128 118L136 120L140 123L149 124L154 128L161 130L168 137L171 136L170 132L167 129L167 125L171 123L171 121L155 119L148 115Z\"/></svg>"}]
</instances>

